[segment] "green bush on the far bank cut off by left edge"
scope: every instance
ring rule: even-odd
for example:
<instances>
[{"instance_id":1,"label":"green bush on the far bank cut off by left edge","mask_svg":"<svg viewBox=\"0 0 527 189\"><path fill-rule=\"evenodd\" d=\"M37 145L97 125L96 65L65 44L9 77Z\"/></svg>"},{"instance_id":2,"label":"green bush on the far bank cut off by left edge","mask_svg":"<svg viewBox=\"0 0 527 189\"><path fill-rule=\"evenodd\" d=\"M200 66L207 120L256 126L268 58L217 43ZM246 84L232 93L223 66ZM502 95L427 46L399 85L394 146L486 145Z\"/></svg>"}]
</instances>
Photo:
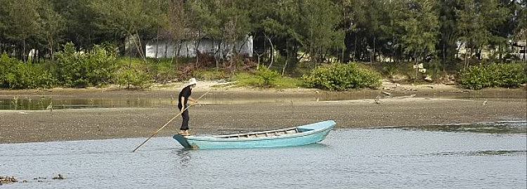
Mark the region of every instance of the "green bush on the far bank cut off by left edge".
<instances>
[{"instance_id":1,"label":"green bush on the far bank cut off by left edge","mask_svg":"<svg viewBox=\"0 0 527 189\"><path fill-rule=\"evenodd\" d=\"M37 88L53 87L53 77L38 64L30 64L9 58L5 53L0 57L0 87Z\"/></svg>"}]
</instances>

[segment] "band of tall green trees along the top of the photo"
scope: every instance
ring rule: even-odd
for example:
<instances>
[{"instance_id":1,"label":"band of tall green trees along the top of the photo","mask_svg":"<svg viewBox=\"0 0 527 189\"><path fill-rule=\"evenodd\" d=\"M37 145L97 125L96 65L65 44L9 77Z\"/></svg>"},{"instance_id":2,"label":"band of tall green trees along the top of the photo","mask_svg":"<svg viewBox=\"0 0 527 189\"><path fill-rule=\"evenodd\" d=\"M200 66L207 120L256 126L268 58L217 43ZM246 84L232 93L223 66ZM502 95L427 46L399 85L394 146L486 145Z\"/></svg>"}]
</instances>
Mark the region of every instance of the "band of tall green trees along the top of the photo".
<instances>
[{"instance_id":1,"label":"band of tall green trees along the top of the photo","mask_svg":"<svg viewBox=\"0 0 527 189\"><path fill-rule=\"evenodd\" d=\"M186 29L222 41L254 37L268 62L415 61L442 64L519 58L526 0L0 0L0 52L53 59L67 42L123 48L129 36ZM202 35L192 36L199 39ZM134 41L143 52L141 38ZM517 45L517 44L516 44ZM463 46L468 52L460 53ZM233 47L235 48L235 47ZM278 52L275 55L275 52ZM122 50L122 53L124 51ZM142 57L142 53L140 53ZM516 57L515 57L516 56Z\"/></svg>"}]
</instances>

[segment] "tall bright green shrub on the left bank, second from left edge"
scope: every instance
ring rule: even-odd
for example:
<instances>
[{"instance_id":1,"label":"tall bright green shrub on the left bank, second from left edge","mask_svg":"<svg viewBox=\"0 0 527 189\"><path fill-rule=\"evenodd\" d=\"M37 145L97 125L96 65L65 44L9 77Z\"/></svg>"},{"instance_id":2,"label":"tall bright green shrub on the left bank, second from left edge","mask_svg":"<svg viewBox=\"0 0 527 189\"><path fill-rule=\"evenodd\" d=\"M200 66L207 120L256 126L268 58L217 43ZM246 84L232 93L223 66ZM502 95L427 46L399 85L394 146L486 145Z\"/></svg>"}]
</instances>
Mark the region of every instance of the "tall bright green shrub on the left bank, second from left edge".
<instances>
[{"instance_id":1,"label":"tall bright green shrub on the left bank, second from left edge","mask_svg":"<svg viewBox=\"0 0 527 189\"><path fill-rule=\"evenodd\" d=\"M75 50L73 43L56 53L58 81L68 87L87 87L108 83L115 70L115 56L96 45L91 52Z\"/></svg>"}]
</instances>

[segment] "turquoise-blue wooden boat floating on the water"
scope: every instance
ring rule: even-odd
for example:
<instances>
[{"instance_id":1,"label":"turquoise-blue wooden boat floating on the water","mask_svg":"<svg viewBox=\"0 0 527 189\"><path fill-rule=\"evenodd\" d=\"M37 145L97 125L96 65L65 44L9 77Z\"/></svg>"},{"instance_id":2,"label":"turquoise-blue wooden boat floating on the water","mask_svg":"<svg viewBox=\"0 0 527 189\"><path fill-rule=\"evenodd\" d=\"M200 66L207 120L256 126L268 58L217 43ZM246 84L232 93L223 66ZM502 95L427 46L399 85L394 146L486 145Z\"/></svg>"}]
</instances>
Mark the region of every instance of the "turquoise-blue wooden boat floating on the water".
<instances>
[{"instance_id":1,"label":"turquoise-blue wooden boat floating on the water","mask_svg":"<svg viewBox=\"0 0 527 189\"><path fill-rule=\"evenodd\" d=\"M181 136L174 139L185 148L192 149L226 149L226 148L272 148L280 146L300 146L315 144L325 139L335 126L327 120L299 127L263 132L248 132L217 136Z\"/></svg>"}]
</instances>

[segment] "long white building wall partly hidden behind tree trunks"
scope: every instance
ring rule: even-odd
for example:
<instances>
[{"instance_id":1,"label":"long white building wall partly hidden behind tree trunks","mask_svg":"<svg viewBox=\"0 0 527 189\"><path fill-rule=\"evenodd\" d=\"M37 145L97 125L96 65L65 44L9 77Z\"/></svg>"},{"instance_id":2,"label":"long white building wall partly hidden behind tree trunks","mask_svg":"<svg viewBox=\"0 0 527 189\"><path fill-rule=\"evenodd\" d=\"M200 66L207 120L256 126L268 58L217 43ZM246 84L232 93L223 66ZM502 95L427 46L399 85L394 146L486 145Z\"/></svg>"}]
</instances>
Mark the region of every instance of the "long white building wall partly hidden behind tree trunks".
<instances>
[{"instance_id":1,"label":"long white building wall partly hidden behind tree trunks","mask_svg":"<svg viewBox=\"0 0 527 189\"><path fill-rule=\"evenodd\" d=\"M196 43L195 40L183 40L181 45L176 41L163 39L159 41L151 40L147 41L145 45L146 57L156 57L157 47L157 58L171 58L178 55L179 57L195 57L196 56ZM214 40L204 38L200 40L197 50L201 53L214 54L219 48L217 56L228 57L233 54L233 48L240 51L241 55L246 57L252 57L253 55L253 38L247 36L245 41L238 41L235 44L226 44L220 40Z\"/></svg>"}]
</instances>

